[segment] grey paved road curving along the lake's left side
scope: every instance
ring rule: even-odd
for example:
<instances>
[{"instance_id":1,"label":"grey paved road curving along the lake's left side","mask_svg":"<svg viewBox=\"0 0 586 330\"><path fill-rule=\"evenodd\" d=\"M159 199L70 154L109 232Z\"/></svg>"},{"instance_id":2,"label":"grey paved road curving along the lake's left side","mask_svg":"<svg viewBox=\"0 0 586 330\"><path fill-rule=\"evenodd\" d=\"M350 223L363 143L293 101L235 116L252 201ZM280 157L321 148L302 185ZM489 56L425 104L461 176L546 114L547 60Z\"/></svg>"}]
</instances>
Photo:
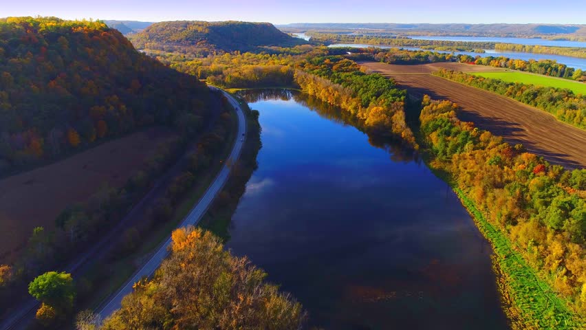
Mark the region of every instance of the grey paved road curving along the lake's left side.
<instances>
[{"instance_id":1,"label":"grey paved road curving along the lake's left side","mask_svg":"<svg viewBox=\"0 0 586 330\"><path fill-rule=\"evenodd\" d=\"M211 86L210 89L216 89L224 93L224 96L228 98L230 104L232 104L232 106L235 108L238 116L238 133L236 135L236 141L234 147L232 148L232 152L228 157L228 159L231 159L231 161L224 162L224 167L221 169L220 173L217 175L213 183L208 187L208 190L206 190L204 196L201 199L199 199L199 201L197 201L195 206L193 206L189 214L187 214L187 217L185 217L185 219L180 223L178 228L185 227L188 225L196 225L199 222L199 220L202 219L204 214L206 214L206 211L214 201L215 197L224 187L226 181L228 181L228 177L230 175L229 166L230 164L234 163L240 156L240 152L244 144L242 136L246 136L246 120L244 118L244 113L240 107L239 102L235 98L230 96L230 94L228 94L226 91ZM155 270L157 270L157 268L161 265L163 259L165 259L167 255L169 255L170 245L171 236L169 236L169 239L167 239L162 245L160 245L158 250L153 254L153 256L151 256L151 259L149 259L149 261L146 261L142 268L140 268L138 272L135 272L132 278L130 278L129 281L127 281L127 283L124 283L124 285L118 290L118 292L116 292L116 294L111 296L106 303L102 304L102 307L100 307L97 312L97 314L100 316L102 320L111 315L113 311L116 311L116 309L120 309L122 298L124 298L124 296L132 292L132 287L134 283L137 283L138 281L140 281L141 278L145 276L148 277L153 275Z\"/></svg>"}]
</instances>

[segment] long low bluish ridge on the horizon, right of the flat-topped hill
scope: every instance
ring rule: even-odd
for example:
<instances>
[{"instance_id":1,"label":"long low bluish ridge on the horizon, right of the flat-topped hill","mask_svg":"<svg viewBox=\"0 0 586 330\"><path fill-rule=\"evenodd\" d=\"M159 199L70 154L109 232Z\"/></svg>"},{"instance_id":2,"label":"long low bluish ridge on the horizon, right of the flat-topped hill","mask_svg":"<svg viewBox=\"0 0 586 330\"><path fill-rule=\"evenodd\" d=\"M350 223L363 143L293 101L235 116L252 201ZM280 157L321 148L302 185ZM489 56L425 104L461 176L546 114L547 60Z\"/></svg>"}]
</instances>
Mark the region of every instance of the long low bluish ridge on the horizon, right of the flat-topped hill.
<instances>
[{"instance_id":1,"label":"long low bluish ridge on the horizon, right of the flat-topped hill","mask_svg":"<svg viewBox=\"0 0 586 330\"><path fill-rule=\"evenodd\" d=\"M578 24L292 23L278 26L286 31L378 30L397 34L461 36L586 36L586 25Z\"/></svg>"}]
</instances>

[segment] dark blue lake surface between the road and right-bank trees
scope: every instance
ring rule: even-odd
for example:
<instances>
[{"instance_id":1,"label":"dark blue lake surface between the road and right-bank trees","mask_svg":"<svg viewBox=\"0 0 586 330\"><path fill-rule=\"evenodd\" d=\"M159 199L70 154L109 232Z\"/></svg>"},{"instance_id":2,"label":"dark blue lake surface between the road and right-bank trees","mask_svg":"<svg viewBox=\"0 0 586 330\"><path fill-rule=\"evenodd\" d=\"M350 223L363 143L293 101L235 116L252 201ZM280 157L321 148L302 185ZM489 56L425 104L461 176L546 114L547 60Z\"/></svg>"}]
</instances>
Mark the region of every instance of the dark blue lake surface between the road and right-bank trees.
<instances>
[{"instance_id":1,"label":"dark blue lake surface between the road and right-bank trees","mask_svg":"<svg viewBox=\"0 0 586 330\"><path fill-rule=\"evenodd\" d=\"M425 164L309 96L258 93L263 146L234 254L325 329L508 329L490 245Z\"/></svg>"}]
</instances>

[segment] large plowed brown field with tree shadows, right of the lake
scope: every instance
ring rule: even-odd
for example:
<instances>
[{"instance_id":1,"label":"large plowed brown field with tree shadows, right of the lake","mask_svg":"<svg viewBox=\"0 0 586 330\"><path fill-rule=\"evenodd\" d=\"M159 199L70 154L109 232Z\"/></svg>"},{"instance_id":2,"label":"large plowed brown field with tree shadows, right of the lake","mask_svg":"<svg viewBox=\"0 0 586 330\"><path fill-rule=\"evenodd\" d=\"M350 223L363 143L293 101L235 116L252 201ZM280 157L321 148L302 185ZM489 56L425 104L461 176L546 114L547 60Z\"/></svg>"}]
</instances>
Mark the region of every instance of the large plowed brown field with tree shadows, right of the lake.
<instances>
[{"instance_id":1,"label":"large plowed brown field with tree shadows, right of the lake","mask_svg":"<svg viewBox=\"0 0 586 330\"><path fill-rule=\"evenodd\" d=\"M360 65L392 77L409 94L427 94L435 100L456 102L462 107L462 112L458 113L460 119L501 135L511 144L522 143L528 151L545 157L552 164L567 168L586 165L586 131L510 98L431 75L442 67L464 72L495 71L495 68L462 63L390 65L362 62Z\"/></svg>"}]
</instances>

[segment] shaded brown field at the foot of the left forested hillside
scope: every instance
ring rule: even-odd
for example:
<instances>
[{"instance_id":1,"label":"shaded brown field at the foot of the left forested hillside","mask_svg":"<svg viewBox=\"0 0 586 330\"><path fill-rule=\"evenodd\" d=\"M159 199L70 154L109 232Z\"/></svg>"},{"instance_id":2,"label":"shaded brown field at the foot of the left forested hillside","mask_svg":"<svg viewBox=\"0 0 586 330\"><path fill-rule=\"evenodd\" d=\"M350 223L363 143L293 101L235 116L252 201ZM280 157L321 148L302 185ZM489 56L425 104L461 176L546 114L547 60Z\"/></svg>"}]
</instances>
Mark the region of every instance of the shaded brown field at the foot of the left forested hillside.
<instances>
[{"instance_id":1,"label":"shaded brown field at the foot of the left forested hillside","mask_svg":"<svg viewBox=\"0 0 586 330\"><path fill-rule=\"evenodd\" d=\"M146 129L0 180L0 261L14 259L34 227L53 228L67 206L87 200L105 184L126 184L155 154L153 146L175 136L164 128Z\"/></svg>"}]
</instances>

